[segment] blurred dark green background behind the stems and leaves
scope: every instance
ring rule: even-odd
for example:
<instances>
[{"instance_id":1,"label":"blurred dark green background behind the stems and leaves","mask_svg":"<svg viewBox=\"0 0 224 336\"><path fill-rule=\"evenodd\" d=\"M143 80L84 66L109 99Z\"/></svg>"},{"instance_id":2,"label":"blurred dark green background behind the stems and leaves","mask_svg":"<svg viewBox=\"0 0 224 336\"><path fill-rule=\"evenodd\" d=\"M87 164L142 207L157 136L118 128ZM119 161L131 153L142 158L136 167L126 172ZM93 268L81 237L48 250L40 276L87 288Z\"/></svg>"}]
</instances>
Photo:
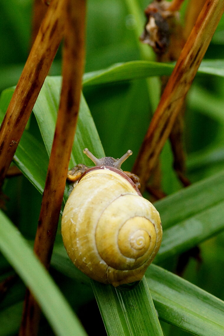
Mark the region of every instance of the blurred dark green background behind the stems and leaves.
<instances>
[{"instance_id":1,"label":"blurred dark green background behind the stems and leaves","mask_svg":"<svg viewBox=\"0 0 224 336\"><path fill-rule=\"evenodd\" d=\"M138 2L142 11L148 3L145 0ZM187 1L181 10L182 22L186 6ZM2 91L16 85L29 54L32 1L1 0L0 12ZM143 16L142 27L144 23ZM85 72L104 69L119 62L141 59L134 29L135 19L128 12L126 1L89 0ZM205 59L222 59L223 56L224 17L219 23ZM50 75L60 74L61 47L50 71ZM135 80L124 84L86 87L84 95L106 155L117 158L128 149L132 149L134 154L123 167L124 170L130 170L153 113L146 81ZM196 76L187 97L185 114L187 176L192 182L211 176L224 167L223 96L224 78L214 75ZM29 127L40 137L35 118L31 117ZM161 154L162 187L166 194L171 194L181 187L173 171L172 161L170 144L167 142ZM41 196L23 176L8 179L4 185L4 193L7 195L5 212L19 226L26 238L33 239ZM201 261L191 257L184 271L184 278L221 299L224 299L223 248L223 233L200 244ZM177 259L170 260L162 266L175 271ZM60 276L56 277L60 283ZM165 333L167 335L185 335L183 331L174 327L169 328Z\"/></svg>"}]
</instances>

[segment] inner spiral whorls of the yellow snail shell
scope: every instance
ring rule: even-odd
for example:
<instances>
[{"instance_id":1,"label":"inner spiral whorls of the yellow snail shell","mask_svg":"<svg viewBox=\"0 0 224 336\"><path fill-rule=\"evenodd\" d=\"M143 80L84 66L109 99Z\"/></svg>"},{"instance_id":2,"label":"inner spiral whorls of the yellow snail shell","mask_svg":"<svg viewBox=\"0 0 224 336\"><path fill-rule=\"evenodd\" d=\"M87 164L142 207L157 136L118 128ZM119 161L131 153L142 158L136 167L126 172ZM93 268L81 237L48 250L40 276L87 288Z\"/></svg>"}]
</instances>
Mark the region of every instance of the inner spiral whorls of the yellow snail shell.
<instances>
[{"instance_id":1,"label":"inner spiral whorls of the yellow snail shell","mask_svg":"<svg viewBox=\"0 0 224 336\"><path fill-rule=\"evenodd\" d=\"M153 213L148 203L138 195L121 195L101 214L96 228L96 246L108 266L117 270L136 269L152 255L156 231L150 221ZM110 223L105 230L107 218Z\"/></svg>"}]
</instances>

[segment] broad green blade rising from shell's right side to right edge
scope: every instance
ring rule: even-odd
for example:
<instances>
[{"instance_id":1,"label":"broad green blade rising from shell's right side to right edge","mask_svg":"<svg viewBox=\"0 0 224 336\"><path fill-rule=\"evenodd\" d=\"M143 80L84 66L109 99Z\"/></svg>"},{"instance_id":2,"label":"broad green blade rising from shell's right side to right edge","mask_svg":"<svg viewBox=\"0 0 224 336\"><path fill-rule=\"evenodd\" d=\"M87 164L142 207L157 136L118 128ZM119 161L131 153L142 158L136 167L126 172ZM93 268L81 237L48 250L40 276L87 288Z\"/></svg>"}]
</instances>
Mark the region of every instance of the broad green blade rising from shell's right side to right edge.
<instances>
[{"instance_id":1,"label":"broad green blade rising from shell's right side to right edge","mask_svg":"<svg viewBox=\"0 0 224 336\"><path fill-rule=\"evenodd\" d=\"M158 263L224 229L224 171L156 202L155 207L164 229Z\"/></svg>"}]
</instances>

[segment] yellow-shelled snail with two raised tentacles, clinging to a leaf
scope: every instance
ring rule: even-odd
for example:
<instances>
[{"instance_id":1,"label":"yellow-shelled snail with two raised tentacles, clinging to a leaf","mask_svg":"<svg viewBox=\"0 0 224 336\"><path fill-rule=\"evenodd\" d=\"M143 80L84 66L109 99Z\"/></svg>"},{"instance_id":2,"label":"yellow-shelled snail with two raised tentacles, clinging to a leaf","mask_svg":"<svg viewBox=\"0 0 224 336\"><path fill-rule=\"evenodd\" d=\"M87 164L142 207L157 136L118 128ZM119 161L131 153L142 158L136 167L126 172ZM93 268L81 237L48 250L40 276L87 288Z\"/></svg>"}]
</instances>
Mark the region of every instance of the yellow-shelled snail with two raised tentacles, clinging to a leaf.
<instances>
[{"instance_id":1,"label":"yellow-shelled snail with two raised tentacles, clinging to a leaf","mask_svg":"<svg viewBox=\"0 0 224 336\"><path fill-rule=\"evenodd\" d=\"M97 159L66 202L62 237L69 258L90 278L114 287L141 281L159 250L162 227L158 211L121 170L132 155Z\"/></svg>"}]
</instances>

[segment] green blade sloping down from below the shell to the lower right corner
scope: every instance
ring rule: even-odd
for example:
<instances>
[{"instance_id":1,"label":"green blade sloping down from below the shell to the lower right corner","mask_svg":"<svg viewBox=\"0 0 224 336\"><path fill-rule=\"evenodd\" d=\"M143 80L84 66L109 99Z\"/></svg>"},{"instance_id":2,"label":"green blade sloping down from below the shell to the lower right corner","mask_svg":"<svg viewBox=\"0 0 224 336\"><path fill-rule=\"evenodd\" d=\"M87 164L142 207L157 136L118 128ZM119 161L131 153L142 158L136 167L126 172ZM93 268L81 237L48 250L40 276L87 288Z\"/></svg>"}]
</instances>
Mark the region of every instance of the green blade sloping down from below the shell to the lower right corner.
<instances>
[{"instance_id":1,"label":"green blade sloping down from below the shell to the lower right corner","mask_svg":"<svg viewBox=\"0 0 224 336\"><path fill-rule=\"evenodd\" d=\"M222 300L153 264L146 281L160 319L195 335L224 335Z\"/></svg>"}]
</instances>

